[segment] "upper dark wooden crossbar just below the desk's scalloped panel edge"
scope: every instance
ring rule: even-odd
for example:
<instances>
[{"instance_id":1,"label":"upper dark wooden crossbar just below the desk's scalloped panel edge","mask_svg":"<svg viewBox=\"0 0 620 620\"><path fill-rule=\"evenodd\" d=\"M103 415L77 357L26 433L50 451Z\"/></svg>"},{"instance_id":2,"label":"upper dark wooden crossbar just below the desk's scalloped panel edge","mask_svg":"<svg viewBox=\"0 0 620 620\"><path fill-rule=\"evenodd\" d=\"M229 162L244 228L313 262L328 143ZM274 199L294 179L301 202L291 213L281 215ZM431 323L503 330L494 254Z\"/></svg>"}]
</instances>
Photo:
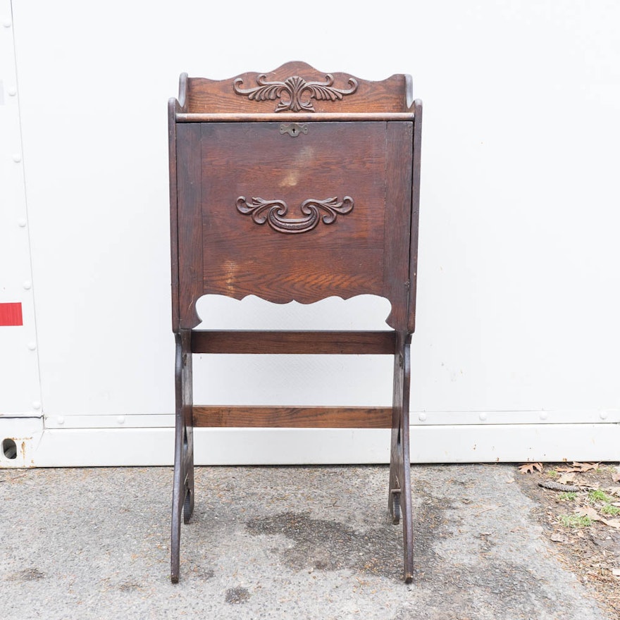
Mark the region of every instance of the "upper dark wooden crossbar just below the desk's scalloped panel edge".
<instances>
[{"instance_id":1,"label":"upper dark wooden crossbar just below the desk's scalloped panel edge","mask_svg":"<svg viewBox=\"0 0 620 620\"><path fill-rule=\"evenodd\" d=\"M192 353L392 354L395 332L219 331L192 333Z\"/></svg>"}]
</instances>

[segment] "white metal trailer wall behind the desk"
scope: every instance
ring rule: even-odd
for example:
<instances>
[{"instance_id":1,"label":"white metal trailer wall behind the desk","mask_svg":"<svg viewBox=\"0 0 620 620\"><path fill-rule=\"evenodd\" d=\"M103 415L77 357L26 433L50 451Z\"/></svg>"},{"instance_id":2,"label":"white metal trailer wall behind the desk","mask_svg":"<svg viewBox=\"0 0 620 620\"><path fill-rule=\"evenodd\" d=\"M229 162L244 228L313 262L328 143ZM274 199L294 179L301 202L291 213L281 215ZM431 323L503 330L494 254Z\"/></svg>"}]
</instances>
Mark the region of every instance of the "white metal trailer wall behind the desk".
<instances>
[{"instance_id":1,"label":"white metal trailer wall behind the desk","mask_svg":"<svg viewBox=\"0 0 620 620\"><path fill-rule=\"evenodd\" d=\"M321 0L283 16L13 0L13 18L0 7L11 178L0 294L25 309L23 328L0 327L0 435L31 438L1 465L171 462L166 101L182 71L219 79L289 60L366 79L411 73L424 101L414 460L620 459L620 5ZM309 309L247 302L265 321L307 320ZM354 303L373 325L387 314ZM237 304L205 300L202 316L247 314ZM389 361L290 362L281 380L282 358L199 359L197 396L390 401ZM233 367L241 383L227 379ZM201 429L197 458L376 462L387 444L382 431Z\"/></svg>"}]
</instances>

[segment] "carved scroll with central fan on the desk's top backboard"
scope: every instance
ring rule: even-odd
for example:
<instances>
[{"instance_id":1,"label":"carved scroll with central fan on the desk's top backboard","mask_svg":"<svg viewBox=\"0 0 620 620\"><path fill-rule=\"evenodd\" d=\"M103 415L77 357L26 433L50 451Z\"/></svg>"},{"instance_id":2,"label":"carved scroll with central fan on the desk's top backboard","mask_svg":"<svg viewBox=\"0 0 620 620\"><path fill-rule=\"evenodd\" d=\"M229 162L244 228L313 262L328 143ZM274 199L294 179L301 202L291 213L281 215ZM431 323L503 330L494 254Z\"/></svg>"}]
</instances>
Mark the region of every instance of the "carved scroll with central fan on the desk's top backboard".
<instances>
[{"instance_id":1,"label":"carved scroll with central fan on the desk's top backboard","mask_svg":"<svg viewBox=\"0 0 620 620\"><path fill-rule=\"evenodd\" d=\"M314 112L312 99L336 101L357 90L357 80L354 77L349 77L349 89L335 88L334 76L330 73L325 75L325 82L306 82L299 75L287 77L284 82L267 82L264 74L256 77L258 86L254 88L240 88L242 82L242 77L237 77L233 82L233 89L237 94L247 95L252 101L280 99L275 106L276 112Z\"/></svg>"}]
</instances>

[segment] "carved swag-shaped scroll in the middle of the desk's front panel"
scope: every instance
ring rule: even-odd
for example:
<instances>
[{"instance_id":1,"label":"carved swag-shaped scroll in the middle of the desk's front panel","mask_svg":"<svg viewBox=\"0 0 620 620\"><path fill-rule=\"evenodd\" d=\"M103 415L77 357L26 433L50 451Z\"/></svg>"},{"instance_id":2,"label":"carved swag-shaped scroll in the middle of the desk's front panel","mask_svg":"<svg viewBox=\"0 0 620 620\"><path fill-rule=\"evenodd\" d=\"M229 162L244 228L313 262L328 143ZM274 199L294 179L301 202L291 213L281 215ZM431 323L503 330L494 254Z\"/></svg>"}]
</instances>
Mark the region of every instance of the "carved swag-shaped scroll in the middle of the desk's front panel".
<instances>
[{"instance_id":1,"label":"carved swag-shaped scroll in the middle of the desk's front panel","mask_svg":"<svg viewBox=\"0 0 620 620\"><path fill-rule=\"evenodd\" d=\"M303 218L285 218L288 206L283 200L252 198L248 202L244 196L237 198L237 210L240 213L252 216L257 224L268 223L278 233L307 233L316 227L320 219L324 224L333 224L339 213L346 215L353 211L353 199L345 196L339 202L337 197L325 200L309 198L302 202L299 209L304 214ZM324 212L323 217L321 211Z\"/></svg>"}]
</instances>

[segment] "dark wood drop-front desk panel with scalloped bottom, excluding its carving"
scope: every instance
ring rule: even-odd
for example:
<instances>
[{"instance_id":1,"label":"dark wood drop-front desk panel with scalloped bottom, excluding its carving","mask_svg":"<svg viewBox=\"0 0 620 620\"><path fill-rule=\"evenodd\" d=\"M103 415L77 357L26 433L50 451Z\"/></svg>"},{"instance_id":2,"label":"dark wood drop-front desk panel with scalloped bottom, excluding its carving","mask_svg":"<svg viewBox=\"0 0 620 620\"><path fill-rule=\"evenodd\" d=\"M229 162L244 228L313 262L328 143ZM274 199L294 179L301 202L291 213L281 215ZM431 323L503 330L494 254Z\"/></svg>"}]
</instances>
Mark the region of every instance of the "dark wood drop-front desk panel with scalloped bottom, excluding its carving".
<instances>
[{"instance_id":1,"label":"dark wood drop-front desk panel with scalloped bottom, excluding its carving","mask_svg":"<svg viewBox=\"0 0 620 620\"><path fill-rule=\"evenodd\" d=\"M195 303L202 294L242 299L260 283L260 296L277 303L382 295L392 302L387 323L405 329L412 131L404 121L311 123L308 135L291 138L278 123L180 125L182 328L199 322ZM282 235L240 213L240 198L253 197L285 202L297 214L308 199L350 197L354 206L330 225Z\"/></svg>"}]
</instances>

